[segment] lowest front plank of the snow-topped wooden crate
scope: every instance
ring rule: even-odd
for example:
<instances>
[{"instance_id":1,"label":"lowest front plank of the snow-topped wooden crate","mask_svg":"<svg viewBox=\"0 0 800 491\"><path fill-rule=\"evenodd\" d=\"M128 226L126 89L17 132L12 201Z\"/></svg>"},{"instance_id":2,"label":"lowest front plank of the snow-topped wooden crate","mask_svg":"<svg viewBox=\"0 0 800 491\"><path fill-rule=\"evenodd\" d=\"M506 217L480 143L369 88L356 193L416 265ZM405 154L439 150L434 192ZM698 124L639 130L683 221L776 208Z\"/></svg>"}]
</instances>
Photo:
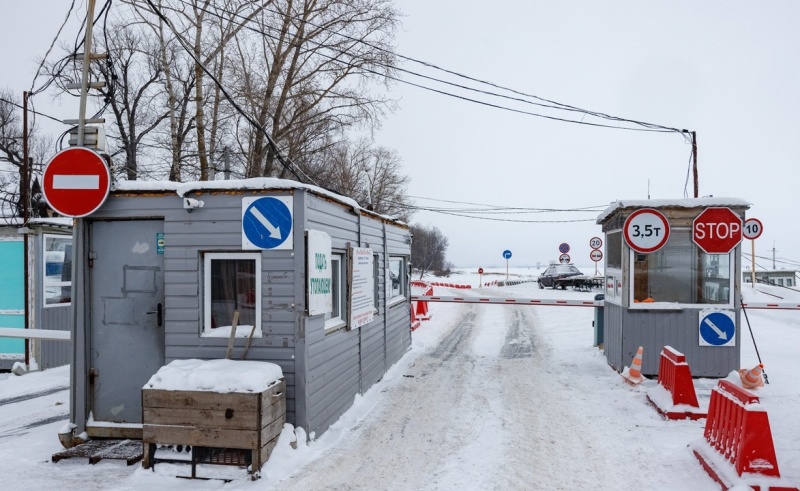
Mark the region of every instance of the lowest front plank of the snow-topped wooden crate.
<instances>
[{"instance_id":1,"label":"lowest front plank of the snow-topped wooden crate","mask_svg":"<svg viewBox=\"0 0 800 491\"><path fill-rule=\"evenodd\" d=\"M142 441L242 449L255 449L259 445L257 431L150 424L144 425Z\"/></svg>"}]
</instances>

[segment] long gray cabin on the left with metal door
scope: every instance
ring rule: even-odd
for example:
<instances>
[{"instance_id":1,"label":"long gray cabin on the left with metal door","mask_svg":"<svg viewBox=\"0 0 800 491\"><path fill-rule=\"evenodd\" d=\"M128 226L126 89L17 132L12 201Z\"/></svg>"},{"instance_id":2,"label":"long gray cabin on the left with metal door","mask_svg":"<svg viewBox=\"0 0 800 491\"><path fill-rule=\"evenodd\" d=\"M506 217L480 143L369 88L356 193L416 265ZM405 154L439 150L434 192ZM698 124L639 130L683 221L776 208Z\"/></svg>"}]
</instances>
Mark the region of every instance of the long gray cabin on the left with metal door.
<instances>
[{"instance_id":1,"label":"long gray cabin on the left with metal door","mask_svg":"<svg viewBox=\"0 0 800 491\"><path fill-rule=\"evenodd\" d=\"M309 434L411 345L408 226L321 188L120 182L75 227L73 436L141 438L143 385L176 359L225 358L234 310L232 358L280 365L287 422Z\"/></svg>"}]
</instances>

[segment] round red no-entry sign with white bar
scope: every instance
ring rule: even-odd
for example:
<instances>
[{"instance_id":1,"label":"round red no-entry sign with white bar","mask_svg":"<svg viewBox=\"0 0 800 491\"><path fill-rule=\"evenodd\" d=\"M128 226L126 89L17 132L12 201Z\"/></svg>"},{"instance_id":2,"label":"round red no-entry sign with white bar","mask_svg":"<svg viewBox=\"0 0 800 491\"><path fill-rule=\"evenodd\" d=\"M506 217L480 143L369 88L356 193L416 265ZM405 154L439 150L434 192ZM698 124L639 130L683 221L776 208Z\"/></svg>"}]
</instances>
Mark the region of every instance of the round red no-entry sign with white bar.
<instances>
[{"instance_id":1,"label":"round red no-entry sign with white bar","mask_svg":"<svg viewBox=\"0 0 800 491\"><path fill-rule=\"evenodd\" d=\"M58 152L44 168L42 191L47 204L69 217L93 213L108 197L111 174L103 157L83 147Z\"/></svg>"}]
</instances>

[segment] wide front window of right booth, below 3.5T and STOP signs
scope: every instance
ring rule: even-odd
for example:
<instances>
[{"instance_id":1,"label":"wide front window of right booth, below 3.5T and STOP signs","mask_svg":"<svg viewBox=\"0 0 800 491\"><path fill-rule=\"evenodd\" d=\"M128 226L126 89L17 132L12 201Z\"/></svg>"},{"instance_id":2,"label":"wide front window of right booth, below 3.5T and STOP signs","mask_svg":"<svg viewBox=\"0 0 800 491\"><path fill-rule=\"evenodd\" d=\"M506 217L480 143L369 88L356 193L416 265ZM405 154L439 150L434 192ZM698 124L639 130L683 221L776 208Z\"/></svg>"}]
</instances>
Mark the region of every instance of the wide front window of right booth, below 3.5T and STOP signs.
<instances>
[{"instance_id":1,"label":"wide front window of right booth, below 3.5T and STOP signs","mask_svg":"<svg viewBox=\"0 0 800 491\"><path fill-rule=\"evenodd\" d=\"M673 230L658 251L631 251L631 256L634 304L731 303L731 255L706 254L692 242L690 230Z\"/></svg>"}]
</instances>

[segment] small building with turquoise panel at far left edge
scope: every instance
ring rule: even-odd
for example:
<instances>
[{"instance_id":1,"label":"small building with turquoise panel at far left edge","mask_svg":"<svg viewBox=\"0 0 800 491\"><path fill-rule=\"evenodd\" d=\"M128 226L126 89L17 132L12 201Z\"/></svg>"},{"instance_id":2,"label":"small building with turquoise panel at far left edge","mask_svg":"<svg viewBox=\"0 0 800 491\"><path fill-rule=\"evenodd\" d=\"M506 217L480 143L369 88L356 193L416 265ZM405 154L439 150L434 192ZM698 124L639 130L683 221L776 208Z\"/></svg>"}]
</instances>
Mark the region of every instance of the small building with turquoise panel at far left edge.
<instances>
[{"instance_id":1,"label":"small building with turquoise panel at far left edge","mask_svg":"<svg viewBox=\"0 0 800 491\"><path fill-rule=\"evenodd\" d=\"M28 369L69 363L69 341L36 337L32 330L69 333L72 219L33 218L0 227L0 369L21 362ZM29 337L11 329L28 329Z\"/></svg>"}]
</instances>

